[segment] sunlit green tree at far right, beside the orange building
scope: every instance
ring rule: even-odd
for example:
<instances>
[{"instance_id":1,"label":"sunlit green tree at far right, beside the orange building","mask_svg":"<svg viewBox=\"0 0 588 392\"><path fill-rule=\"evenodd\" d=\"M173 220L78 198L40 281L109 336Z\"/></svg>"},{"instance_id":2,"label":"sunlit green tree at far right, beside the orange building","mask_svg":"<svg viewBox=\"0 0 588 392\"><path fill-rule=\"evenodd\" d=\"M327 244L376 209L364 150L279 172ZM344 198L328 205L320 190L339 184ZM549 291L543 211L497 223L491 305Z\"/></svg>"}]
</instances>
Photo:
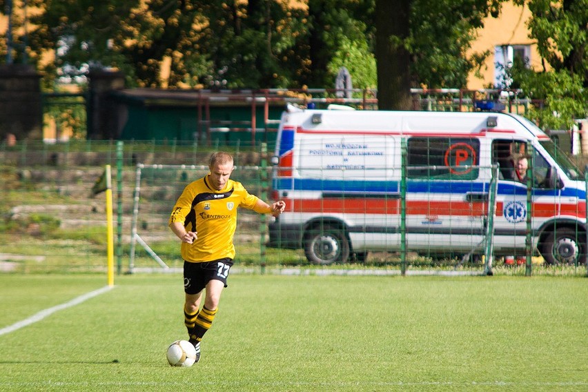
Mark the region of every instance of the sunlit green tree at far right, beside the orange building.
<instances>
[{"instance_id":1,"label":"sunlit green tree at far right, beside the orange building","mask_svg":"<svg viewBox=\"0 0 588 392\"><path fill-rule=\"evenodd\" d=\"M529 115L539 126L569 129L574 119L588 115L588 0L518 3L531 10L530 37L544 66L536 71L515 63L511 77L527 97L541 102Z\"/></svg>"}]
</instances>

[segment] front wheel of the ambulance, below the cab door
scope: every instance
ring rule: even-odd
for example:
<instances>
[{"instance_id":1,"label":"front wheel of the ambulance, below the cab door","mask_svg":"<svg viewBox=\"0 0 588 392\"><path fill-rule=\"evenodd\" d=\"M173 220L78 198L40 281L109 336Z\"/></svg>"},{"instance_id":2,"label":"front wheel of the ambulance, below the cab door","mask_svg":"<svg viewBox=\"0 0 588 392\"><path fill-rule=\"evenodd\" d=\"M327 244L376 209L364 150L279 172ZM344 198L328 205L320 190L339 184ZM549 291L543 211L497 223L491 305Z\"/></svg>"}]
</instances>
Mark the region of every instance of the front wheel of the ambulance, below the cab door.
<instances>
[{"instance_id":1,"label":"front wheel of the ambulance, below the cab door","mask_svg":"<svg viewBox=\"0 0 588 392\"><path fill-rule=\"evenodd\" d=\"M549 233L541 246L541 255L547 264L584 263L584 246L578 241L576 231L560 228Z\"/></svg>"}]
</instances>

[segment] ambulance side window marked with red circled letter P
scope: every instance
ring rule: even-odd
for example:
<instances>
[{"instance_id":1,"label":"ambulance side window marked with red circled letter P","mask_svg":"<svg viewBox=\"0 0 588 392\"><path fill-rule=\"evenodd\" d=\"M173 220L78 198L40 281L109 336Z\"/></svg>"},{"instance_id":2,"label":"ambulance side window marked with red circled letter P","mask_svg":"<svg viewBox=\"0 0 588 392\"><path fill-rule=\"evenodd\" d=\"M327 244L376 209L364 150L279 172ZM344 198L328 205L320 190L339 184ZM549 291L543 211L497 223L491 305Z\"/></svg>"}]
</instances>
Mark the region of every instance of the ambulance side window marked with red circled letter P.
<instances>
[{"instance_id":1,"label":"ambulance side window marked with red circled letter P","mask_svg":"<svg viewBox=\"0 0 588 392\"><path fill-rule=\"evenodd\" d=\"M407 172L414 179L478 178L480 141L453 137L411 137Z\"/></svg>"}]
</instances>

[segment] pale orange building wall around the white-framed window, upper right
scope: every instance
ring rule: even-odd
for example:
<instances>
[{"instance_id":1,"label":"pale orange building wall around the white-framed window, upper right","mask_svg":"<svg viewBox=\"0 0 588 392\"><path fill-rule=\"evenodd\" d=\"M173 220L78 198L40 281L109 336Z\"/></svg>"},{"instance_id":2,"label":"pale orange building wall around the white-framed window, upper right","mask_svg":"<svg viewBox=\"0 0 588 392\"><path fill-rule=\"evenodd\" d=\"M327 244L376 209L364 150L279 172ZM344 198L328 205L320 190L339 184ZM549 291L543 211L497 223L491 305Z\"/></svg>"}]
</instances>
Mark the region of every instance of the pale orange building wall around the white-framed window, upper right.
<instances>
[{"instance_id":1,"label":"pale orange building wall around the white-framed window, upper right","mask_svg":"<svg viewBox=\"0 0 588 392\"><path fill-rule=\"evenodd\" d=\"M494 83L495 59L494 48L502 45L529 45L531 53L529 64L534 70L542 67L541 59L537 51L537 43L529 38L527 21L531 18L531 12L527 6L516 6L511 1L502 4L502 10L498 18L487 17L484 19L484 28L478 31L478 39L473 42L471 52L484 52L490 50L491 55L480 70L482 79L469 75L467 87L471 90L488 88Z\"/></svg>"}]
</instances>

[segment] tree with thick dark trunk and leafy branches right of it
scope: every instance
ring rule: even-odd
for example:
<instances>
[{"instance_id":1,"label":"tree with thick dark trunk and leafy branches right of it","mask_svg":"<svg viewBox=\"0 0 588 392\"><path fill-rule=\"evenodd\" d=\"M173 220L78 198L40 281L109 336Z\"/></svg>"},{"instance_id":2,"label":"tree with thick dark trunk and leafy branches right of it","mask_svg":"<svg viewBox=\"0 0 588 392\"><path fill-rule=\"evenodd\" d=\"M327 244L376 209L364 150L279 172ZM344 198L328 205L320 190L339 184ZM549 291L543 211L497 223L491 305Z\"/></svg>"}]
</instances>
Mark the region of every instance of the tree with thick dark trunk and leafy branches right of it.
<instances>
[{"instance_id":1,"label":"tree with thick dark trunk and leafy branches right of it","mask_svg":"<svg viewBox=\"0 0 588 392\"><path fill-rule=\"evenodd\" d=\"M410 88L464 88L489 52L467 55L503 0L376 0L378 102L410 109Z\"/></svg>"}]
</instances>

